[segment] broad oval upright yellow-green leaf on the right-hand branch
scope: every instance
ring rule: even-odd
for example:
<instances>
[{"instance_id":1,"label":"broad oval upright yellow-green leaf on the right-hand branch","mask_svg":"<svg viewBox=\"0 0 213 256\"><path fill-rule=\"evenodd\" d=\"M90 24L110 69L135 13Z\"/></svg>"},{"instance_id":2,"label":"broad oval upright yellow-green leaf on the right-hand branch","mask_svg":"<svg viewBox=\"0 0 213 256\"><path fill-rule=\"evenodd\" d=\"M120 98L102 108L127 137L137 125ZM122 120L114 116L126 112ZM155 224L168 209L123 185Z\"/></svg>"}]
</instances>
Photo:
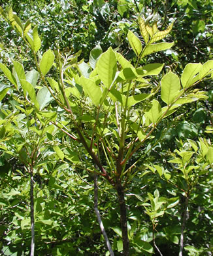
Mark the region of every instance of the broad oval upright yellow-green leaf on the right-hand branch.
<instances>
[{"instance_id":1,"label":"broad oval upright yellow-green leaf on the right-hand branch","mask_svg":"<svg viewBox=\"0 0 213 256\"><path fill-rule=\"evenodd\" d=\"M180 90L178 75L169 72L161 79L161 98L167 104L171 104Z\"/></svg>"}]
</instances>

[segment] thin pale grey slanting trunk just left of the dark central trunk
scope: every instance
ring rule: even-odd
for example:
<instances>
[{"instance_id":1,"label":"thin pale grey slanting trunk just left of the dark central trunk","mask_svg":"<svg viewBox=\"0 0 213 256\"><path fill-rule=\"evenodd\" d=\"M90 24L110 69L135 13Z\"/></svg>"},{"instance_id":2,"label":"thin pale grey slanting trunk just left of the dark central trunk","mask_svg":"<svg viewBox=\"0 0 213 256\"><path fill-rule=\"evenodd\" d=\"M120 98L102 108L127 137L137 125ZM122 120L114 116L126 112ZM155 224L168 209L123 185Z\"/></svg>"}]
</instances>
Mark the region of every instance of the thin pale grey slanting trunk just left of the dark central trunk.
<instances>
[{"instance_id":1,"label":"thin pale grey slanting trunk just left of the dark central trunk","mask_svg":"<svg viewBox=\"0 0 213 256\"><path fill-rule=\"evenodd\" d=\"M97 187L97 174L95 174L94 175L94 209L95 209L95 214L97 216L97 221L98 221L99 226L101 228L101 232L103 234L103 237L105 238L106 246L108 248L108 251L110 252L110 256L114 256L114 252L112 251L110 241L108 240L108 236L106 234L105 227L103 225L103 222L101 221L101 215L100 215L99 209L97 207L97 201L98 201L98 187Z\"/></svg>"}]
</instances>

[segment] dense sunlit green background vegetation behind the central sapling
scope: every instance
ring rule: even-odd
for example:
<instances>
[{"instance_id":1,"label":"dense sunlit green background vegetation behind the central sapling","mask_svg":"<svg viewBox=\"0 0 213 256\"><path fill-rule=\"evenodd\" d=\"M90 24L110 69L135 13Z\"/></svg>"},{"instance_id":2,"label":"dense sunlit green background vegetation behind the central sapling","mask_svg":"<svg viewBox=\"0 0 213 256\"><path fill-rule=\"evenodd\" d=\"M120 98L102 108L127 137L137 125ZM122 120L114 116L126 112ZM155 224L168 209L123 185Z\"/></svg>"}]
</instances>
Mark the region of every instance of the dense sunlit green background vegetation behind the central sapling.
<instances>
[{"instance_id":1,"label":"dense sunlit green background vegetation behind the central sapling","mask_svg":"<svg viewBox=\"0 0 213 256\"><path fill-rule=\"evenodd\" d=\"M169 70L181 75L189 62L203 64L212 59L211 1L8 0L1 3L4 10L9 5L24 22L30 18L32 28L39 25L42 41L39 58L48 49L56 53L58 47L61 58L69 54L73 64L85 64L79 71L81 74L85 74L87 63L91 66L91 56L99 56L108 47L116 49L134 66L137 64L127 35L131 30L145 44L138 14L150 20L150 24L156 21L159 30L166 30L174 22L166 39L174 41L173 47L140 60L141 66L165 64L157 77L148 77L150 84L157 85ZM32 51L3 16L0 28L1 64L11 72L14 63L23 64L39 91L44 84L36 77ZM91 55L94 47L97 52ZM18 73L16 68L15 72ZM57 80L56 66L48 76ZM184 104L163 119L152 134L154 139L146 142L127 165L129 168L137 161L137 175L133 175L125 188L129 255L178 255L183 223L183 255L213 253L212 79L204 79L196 88L205 91L208 98ZM65 112L46 96L39 102L46 116L39 116L23 96L22 87L11 89L11 81L3 72L0 91L1 254L30 253L30 174L36 169L33 177L35 255L109 255L94 211L94 173L88 172L93 163L82 146L61 131L66 125L72 132L74 129ZM160 96L157 100L162 104ZM82 129L90 133L90 116L95 110L86 100L78 104L84 109ZM139 108L144 105L140 103ZM46 125L46 118L50 118L48 112L57 112L64 127ZM77 149L81 154L73 153ZM100 158L106 166L103 152ZM116 190L100 175L98 186L99 211L106 233L114 254L122 255Z\"/></svg>"}]
</instances>

